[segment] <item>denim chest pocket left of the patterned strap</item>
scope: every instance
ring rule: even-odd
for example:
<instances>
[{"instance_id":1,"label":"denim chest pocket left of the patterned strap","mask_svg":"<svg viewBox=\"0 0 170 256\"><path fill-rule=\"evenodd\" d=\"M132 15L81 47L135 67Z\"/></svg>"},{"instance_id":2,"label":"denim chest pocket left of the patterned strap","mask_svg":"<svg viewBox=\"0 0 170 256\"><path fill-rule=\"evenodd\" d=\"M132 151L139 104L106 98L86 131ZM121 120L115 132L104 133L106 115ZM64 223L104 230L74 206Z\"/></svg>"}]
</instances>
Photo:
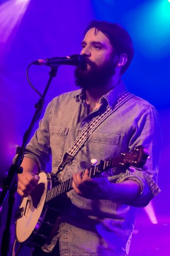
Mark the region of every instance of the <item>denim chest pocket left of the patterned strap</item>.
<instances>
[{"instance_id":1,"label":"denim chest pocket left of the patterned strap","mask_svg":"<svg viewBox=\"0 0 170 256\"><path fill-rule=\"evenodd\" d=\"M57 168L62 159L64 144L68 133L68 127L50 126L49 132L50 147L52 150L52 171L55 172L55 169Z\"/></svg>"}]
</instances>

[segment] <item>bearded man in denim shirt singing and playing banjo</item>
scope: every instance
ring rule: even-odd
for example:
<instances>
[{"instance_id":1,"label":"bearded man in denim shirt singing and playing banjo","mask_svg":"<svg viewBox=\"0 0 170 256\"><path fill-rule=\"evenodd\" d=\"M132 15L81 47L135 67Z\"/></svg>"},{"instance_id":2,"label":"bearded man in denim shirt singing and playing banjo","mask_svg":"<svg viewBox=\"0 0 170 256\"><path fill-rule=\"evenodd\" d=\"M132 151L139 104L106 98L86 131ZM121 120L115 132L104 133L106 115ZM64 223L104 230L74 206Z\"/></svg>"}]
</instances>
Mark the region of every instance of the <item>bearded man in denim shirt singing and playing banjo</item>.
<instances>
[{"instance_id":1,"label":"bearded man in denim shirt singing and playing banjo","mask_svg":"<svg viewBox=\"0 0 170 256\"><path fill-rule=\"evenodd\" d=\"M21 196L35 189L38 172L45 169L50 154L52 172L57 173L64 154L86 124L107 108L114 108L124 95L121 76L132 61L133 46L121 26L91 22L85 30L81 55L86 64L75 70L75 82L81 89L50 102L27 145L23 173L18 177ZM44 245L44 251L36 249L34 254L128 255L136 208L146 206L160 191L156 184L160 137L155 108L135 95L108 116L73 161L58 172L61 182L73 176L73 190L63 202L59 231ZM147 168L114 168L110 177L89 177L91 159L99 163L131 152L138 145L149 151Z\"/></svg>"}]
</instances>

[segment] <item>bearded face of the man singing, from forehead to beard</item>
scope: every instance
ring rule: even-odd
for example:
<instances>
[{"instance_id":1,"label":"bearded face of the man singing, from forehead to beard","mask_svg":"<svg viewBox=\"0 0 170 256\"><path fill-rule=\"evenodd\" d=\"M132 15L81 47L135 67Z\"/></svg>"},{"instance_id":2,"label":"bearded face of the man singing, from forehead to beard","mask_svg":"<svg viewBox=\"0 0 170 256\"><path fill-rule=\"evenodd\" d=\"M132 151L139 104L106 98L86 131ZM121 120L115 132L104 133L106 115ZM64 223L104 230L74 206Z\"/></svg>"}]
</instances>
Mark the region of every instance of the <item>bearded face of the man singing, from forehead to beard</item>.
<instances>
[{"instance_id":1,"label":"bearded face of the man singing, from forehead to beard","mask_svg":"<svg viewBox=\"0 0 170 256\"><path fill-rule=\"evenodd\" d=\"M92 28L82 41L86 64L75 69L75 83L83 88L103 87L115 73L115 52L109 39Z\"/></svg>"}]
</instances>

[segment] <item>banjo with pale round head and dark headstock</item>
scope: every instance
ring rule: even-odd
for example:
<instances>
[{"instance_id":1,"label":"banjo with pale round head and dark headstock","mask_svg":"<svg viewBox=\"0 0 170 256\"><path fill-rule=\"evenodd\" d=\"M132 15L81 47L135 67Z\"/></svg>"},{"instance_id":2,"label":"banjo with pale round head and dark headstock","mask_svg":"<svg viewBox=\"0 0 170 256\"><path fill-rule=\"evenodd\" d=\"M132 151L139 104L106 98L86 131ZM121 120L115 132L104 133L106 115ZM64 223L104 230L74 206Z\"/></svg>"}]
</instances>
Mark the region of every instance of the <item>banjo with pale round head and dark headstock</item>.
<instances>
[{"instance_id":1,"label":"banjo with pale round head and dark headstock","mask_svg":"<svg viewBox=\"0 0 170 256\"><path fill-rule=\"evenodd\" d=\"M89 170L89 177L111 176L111 168L129 166L141 168L149 155L143 146L136 147L132 152L122 153L119 157L100 161ZM84 173L82 174L82 176ZM62 183L56 181L55 175L40 172L39 182L28 197L23 197L19 210L16 212L16 239L29 247L43 246L60 212L61 196L73 189L73 177Z\"/></svg>"}]
</instances>

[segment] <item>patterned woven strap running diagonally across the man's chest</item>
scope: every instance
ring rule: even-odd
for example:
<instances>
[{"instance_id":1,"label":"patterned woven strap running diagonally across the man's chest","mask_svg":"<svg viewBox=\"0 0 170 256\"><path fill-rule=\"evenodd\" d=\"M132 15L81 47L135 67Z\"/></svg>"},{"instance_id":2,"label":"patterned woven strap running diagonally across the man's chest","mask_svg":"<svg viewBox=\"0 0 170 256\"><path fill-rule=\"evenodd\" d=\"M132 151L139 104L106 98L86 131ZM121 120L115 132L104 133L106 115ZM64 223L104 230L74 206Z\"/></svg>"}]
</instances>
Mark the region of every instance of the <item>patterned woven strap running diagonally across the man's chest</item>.
<instances>
[{"instance_id":1,"label":"patterned woven strap running diagonally across the man's chest","mask_svg":"<svg viewBox=\"0 0 170 256\"><path fill-rule=\"evenodd\" d=\"M88 140L89 136L93 133L93 131L96 130L96 128L108 118L112 113L117 111L120 106L125 104L129 99L134 97L134 94L131 94L127 91L122 93L120 97L118 97L117 101L115 102L114 106L107 106L106 111L102 113L102 115L95 116L89 123L86 124L84 129L81 131L81 133L78 134L78 136L75 138L71 146L68 148L67 152L64 154L63 162L60 164L56 175L61 172L64 169L64 166L73 161L75 155L78 153L78 151L82 148L82 146L85 144L86 140Z\"/></svg>"}]
</instances>

